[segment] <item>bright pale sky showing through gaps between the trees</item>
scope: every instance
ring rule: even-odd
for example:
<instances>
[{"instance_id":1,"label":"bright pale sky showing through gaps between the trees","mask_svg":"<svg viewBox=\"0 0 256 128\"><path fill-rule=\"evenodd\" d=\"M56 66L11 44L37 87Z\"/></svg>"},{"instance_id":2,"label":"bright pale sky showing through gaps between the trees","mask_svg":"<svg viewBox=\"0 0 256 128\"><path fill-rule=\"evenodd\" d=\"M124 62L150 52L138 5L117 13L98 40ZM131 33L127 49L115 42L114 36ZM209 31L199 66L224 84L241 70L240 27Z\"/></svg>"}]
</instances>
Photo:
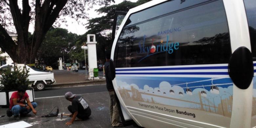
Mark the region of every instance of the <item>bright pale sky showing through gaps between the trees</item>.
<instances>
[{"instance_id":1,"label":"bright pale sky showing through gaps between the trees","mask_svg":"<svg viewBox=\"0 0 256 128\"><path fill-rule=\"evenodd\" d=\"M113 5L113 4L119 4L119 3L121 3L123 0L115 0L115 1L116 1L116 3L111 3L111 5ZM136 2L137 0L128 0L128 1ZM98 14L98 13L95 11L96 9L99 9L99 8L101 8L101 7L103 7L103 6L98 6L98 5L97 5L97 6L93 7L92 9L90 9L89 11L87 11L87 13L89 14L89 15L88 15L89 19L103 16L104 14ZM87 29L85 28L85 26L83 26L82 24L78 24L75 19L72 19L72 18L70 18L70 17L65 17L65 18L66 18L66 20L67 20L67 25L68 25L68 26L65 26L65 24L62 24L62 25L60 26L60 28L67 29L69 32L76 33L76 34L78 34L78 35L81 35L81 34L84 34L85 32L87 32ZM84 20L81 20L81 22L85 24L85 23L87 23L88 21L87 21L86 19L84 19ZM29 32L31 32L31 33L33 32L33 27L34 27L33 24L31 24L31 25L29 26Z\"/></svg>"}]
</instances>

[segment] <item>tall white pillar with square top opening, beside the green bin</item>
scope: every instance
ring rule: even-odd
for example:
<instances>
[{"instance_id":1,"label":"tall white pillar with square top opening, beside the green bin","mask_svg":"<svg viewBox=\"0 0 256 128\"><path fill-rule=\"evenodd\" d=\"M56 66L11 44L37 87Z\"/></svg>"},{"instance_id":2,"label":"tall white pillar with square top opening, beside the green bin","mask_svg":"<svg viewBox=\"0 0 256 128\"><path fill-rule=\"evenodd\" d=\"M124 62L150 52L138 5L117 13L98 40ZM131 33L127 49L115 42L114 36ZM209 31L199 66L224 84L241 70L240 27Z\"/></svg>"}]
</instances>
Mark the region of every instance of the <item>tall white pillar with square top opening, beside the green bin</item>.
<instances>
[{"instance_id":1,"label":"tall white pillar with square top opening, beside the green bin","mask_svg":"<svg viewBox=\"0 0 256 128\"><path fill-rule=\"evenodd\" d=\"M93 37L93 41L90 41L90 37ZM93 69L97 68L97 53L96 53L96 37L95 34L87 34L86 45L88 47L88 65L89 65L89 78L93 79L94 73ZM94 79L99 79L99 77L94 77Z\"/></svg>"}]
</instances>

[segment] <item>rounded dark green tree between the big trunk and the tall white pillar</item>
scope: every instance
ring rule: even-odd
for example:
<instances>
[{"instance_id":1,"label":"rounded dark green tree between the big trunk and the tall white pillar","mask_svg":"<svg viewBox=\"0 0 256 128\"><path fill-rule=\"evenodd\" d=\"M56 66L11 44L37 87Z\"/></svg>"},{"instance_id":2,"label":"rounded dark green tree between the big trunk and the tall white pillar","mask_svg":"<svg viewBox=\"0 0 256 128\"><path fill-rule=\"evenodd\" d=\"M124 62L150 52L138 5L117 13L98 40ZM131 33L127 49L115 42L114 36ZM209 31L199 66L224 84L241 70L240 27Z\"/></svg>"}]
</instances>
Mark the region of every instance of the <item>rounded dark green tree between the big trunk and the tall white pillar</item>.
<instances>
[{"instance_id":1,"label":"rounded dark green tree between the big trunk and the tall white pillar","mask_svg":"<svg viewBox=\"0 0 256 128\"><path fill-rule=\"evenodd\" d=\"M56 68L58 66L58 58L63 58L68 61L68 52L75 45L77 34L68 32L62 28L51 28L45 36L41 47L37 52L39 63L46 64Z\"/></svg>"}]
</instances>

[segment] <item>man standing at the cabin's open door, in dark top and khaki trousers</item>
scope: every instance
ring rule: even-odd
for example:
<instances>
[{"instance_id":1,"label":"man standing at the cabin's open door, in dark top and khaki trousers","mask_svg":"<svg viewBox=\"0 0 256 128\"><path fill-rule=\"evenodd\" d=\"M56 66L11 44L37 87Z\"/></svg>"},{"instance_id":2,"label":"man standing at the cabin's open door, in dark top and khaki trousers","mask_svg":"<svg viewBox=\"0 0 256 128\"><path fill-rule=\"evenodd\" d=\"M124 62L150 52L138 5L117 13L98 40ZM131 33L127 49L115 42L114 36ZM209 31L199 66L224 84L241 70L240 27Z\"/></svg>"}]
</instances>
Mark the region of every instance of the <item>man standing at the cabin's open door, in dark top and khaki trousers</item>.
<instances>
[{"instance_id":1,"label":"man standing at the cabin's open door, in dark top and khaki trousers","mask_svg":"<svg viewBox=\"0 0 256 128\"><path fill-rule=\"evenodd\" d=\"M110 96L109 110L110 110L110 121L113 127L120 127L122 124L119 122L119 112L117 108L117 101L115 96L114 86L110 77L110 56L111 51L106 51L106 62L105 62L105 74L106 74L106 85Z\"/></svg>"}]
</instances>

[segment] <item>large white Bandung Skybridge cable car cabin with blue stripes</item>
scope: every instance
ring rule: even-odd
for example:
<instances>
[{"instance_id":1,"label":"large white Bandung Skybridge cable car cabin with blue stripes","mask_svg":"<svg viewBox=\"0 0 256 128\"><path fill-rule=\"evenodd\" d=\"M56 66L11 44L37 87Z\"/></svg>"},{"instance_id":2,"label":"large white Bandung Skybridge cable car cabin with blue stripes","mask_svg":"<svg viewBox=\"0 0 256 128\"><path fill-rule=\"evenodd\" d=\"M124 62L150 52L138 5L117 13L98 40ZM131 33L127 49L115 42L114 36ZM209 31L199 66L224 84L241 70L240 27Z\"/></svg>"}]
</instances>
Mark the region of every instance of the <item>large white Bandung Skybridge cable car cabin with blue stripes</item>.
<instances>
[{"instance_id":1,"label":"large white Bandung Skybridge cable car cabin with blue stripes","mask_svg":"<svg viewBox=\"0 0 256 128\"><path fill-rule=\"evenodd\" d=\"M153 0L131 9L114 35L123 122L256 127L255 0Z\"/></svg>"}]
</instances>

